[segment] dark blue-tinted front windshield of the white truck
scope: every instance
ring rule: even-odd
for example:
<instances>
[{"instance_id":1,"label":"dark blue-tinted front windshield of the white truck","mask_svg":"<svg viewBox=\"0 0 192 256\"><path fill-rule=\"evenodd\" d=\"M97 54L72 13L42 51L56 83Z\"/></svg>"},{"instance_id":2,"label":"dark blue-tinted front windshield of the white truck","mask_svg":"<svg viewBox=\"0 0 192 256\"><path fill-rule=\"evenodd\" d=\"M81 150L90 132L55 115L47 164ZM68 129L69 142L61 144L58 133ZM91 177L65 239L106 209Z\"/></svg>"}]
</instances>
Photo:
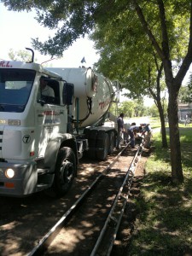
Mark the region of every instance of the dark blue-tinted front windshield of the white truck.
<instances>
[{"instance_id":1,"label":"dark blue-tinted front windshield of the white truck","mask_svg":"<svg viewBox=\"0 0 192 256\"><path fill-rule=\"evenodd\" d=\"M34 70L0 68L0 112L23 112L34 79Z\"/></svg>"}]
</instances>

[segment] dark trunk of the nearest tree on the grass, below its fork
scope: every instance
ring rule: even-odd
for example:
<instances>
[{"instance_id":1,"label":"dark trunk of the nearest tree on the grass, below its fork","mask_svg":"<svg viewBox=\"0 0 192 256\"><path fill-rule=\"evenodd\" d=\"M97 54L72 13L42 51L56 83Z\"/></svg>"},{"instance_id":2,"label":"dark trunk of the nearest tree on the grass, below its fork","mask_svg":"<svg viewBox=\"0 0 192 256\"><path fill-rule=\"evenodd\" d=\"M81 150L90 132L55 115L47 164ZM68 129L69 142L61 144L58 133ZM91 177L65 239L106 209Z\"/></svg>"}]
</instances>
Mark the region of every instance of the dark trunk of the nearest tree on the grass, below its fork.
<instances>
[{"instance_id":1,"label":"dark trunk of the nearest tree on the grass, below its fork","mask_svg":"<svg viewBox=\"0 0 192 256\"><path fill-rule=\"evenodd\" d=\"M183 183L183 170L181 161L180 137L178 130L178 108L177 108L177 90L175 84L169 86L169 132L172 164L172 183Z\"/></svg>"}]
</instances>

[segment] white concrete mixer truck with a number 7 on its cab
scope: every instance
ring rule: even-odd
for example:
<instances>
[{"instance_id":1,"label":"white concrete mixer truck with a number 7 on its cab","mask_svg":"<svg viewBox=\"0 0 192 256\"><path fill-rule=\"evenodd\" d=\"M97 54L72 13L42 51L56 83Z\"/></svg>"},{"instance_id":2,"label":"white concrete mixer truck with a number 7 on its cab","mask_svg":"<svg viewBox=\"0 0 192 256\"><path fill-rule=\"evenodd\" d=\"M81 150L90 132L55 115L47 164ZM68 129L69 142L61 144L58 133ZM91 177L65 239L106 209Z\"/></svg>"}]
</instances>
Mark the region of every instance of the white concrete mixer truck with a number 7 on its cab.
<instances>
[{"instance_id":1,"label":"white concrete mixer truck with a number 7 on its cab","mask_svg":"<svg viewBox=\"0 0 192 256\"><path fill-rule=\"evenodd\" d=\"M41 78L55 96L44 96ZM116 130L102 122L113 95L113 84L91 68L0 61L0 195L65 195L84 153L112 154Z\"/></svg>"}]
</instances>

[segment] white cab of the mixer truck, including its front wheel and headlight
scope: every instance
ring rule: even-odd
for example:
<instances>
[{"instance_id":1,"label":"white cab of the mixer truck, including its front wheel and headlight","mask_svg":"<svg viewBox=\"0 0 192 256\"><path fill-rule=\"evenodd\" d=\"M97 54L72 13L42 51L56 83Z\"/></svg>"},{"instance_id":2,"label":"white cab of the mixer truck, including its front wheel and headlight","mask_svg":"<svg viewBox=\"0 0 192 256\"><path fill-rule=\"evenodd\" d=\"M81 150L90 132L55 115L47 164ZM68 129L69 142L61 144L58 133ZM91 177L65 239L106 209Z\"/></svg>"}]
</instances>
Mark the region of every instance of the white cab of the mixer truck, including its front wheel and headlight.
<instances>
[{"instance_id":1,"label":"white cab of the mixer truck, including its front wheel and headlight","mask_svg":"<svg viewBox=\"0 0 192 256\"><path fill-rule=\"evenodd\" d=\"M64 195L71 187L78 163L67 132L72 103L73 84L59 75L36 63L0 61L0 195Z\"/></svg>"}]
</instances>

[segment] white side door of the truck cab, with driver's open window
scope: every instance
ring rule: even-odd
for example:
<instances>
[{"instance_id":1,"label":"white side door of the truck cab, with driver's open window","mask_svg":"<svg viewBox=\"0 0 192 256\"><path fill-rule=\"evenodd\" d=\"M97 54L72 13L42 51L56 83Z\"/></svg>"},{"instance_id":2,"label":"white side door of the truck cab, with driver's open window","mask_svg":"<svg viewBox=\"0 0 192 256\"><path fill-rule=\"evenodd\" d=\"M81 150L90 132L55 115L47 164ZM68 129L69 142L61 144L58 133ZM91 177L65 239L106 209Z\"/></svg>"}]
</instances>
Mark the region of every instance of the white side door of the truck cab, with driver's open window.
<instances>
[{"instance_id":1,"label":"white side door of the truck cab, with driver's open window","mask_svg":"<svg viewBox=\"0 0 192 256\"><path fill-rule=\"evenodd\" d=\"M45 79L45 82L47 88L46 90L39 88L36 104L36 138L38 142L36 143L36 152L38 152L38 157L44 157L49 139L60 132L63 119L67 116L60 105L59 82L54 79Z\"/></svg>"}]
</instances>

